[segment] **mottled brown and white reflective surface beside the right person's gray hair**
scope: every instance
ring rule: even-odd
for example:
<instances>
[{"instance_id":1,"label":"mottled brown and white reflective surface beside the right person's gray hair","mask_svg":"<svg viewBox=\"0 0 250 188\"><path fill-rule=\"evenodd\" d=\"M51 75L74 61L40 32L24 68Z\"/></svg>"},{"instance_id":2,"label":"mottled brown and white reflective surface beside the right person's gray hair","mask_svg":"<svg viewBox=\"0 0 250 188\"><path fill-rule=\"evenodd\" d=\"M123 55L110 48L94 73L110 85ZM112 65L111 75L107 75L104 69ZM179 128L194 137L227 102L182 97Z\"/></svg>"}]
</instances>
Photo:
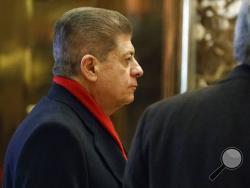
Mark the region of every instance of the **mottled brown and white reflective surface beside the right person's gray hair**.
<instances>
[{"instance_id":1,"label":"mottled brown and white reflective surface beside the right person's gray hair","mask_svg":"<svg viewBox=\"0 0 250 188\"><path fill-rule=\"evenodd\" d=\"M236 65L233 35L240 0L197 0L193 25L195 77L192 88L225 78ZM191 62L190 62L191 63Z\"/></svg>"}]
</instances>

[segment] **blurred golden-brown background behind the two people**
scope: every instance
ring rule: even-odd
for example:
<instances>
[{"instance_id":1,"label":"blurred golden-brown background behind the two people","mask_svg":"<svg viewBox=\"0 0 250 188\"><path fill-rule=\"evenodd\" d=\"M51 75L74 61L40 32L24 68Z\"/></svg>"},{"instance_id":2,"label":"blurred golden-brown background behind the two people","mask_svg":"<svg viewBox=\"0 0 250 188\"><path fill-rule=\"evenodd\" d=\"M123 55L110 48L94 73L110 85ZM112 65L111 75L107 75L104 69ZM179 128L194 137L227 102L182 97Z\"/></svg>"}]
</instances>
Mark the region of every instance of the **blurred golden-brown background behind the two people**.
<instances>
[{"instance_id":1,"label":"blurred golden-brown background behind the two people","mask_svg":"<svg viewBox=\"0 0 250 188\"><path fill-rule=\"evenodd\" d=\"M232 70L240 4L240 0L0 0L0 177L10 137L50 87L53 23L63 12L79 6L103 7L118 10L133 24L133 44L144 76L134 103L112 117L129 150L146 106L206 87Z\"/></svg>"}]
</instances>

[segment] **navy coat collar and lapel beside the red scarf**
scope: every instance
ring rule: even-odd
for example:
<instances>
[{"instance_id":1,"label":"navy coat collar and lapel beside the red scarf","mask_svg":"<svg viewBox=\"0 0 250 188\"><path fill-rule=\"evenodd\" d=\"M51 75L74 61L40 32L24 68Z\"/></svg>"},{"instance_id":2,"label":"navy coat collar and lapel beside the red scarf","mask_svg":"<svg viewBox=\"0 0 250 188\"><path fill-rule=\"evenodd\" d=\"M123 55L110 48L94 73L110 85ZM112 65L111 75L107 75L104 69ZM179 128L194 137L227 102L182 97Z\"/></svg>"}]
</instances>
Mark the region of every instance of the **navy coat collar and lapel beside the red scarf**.
<instances>
[{"instance_id":1,"label":"navy coat collar and lapel beside the red scarf","mask_svg":"<svg viewBox=\"0 0 250 188\"><path fill-rule=\"evenodd\" d=\"M48 97L66 104L78 115L83 126L92 133L94 137L94 147L96 148L97 153L103 159L114 177L119 182L122 182L126 161L113 138L107 133L102 125L71 93L63 87L53 84L49 90Z\"/></svg>"}]
</instances>

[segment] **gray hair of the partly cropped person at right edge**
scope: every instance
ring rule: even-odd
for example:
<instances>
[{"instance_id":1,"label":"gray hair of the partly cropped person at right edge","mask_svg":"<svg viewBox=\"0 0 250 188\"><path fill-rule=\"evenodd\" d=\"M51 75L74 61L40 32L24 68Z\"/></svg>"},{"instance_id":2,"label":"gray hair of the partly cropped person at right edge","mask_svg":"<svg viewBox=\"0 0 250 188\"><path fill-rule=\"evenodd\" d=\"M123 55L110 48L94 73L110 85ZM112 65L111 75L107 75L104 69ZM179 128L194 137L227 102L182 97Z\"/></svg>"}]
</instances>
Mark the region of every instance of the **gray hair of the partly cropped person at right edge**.
<instances>
[{"instance_id":1,"label":"gray hair of the partly cropped person at right edge","mask_svg":"<svg viewBox=\"0 0 250 188\"><path fill-rule=\"evenodd\" d=\"M240 64L250 64L250 0L242 0L235 27L234 54Z\"/></svg>"}]
</instances>

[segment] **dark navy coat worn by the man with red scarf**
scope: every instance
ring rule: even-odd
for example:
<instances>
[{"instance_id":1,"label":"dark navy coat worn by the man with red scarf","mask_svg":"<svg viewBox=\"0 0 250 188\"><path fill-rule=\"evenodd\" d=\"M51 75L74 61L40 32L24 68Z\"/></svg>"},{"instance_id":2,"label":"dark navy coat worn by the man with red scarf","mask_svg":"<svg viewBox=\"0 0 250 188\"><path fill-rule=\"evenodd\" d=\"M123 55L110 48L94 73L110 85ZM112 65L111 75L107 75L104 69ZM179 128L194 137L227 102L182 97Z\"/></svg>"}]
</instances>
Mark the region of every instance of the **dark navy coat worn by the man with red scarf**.
<instances>
[{"instance_id":1,"label":"dark navy coat worn by the man with red scarf","mask_svg":"<svg viewBox=\"0 0 250 188\"><path fill-rule=\"evenodd\" d=\"M53 85L11 139L4 188L118 188L124 166L100 123L68 91Z\"/></svg>"}]
</instances>

